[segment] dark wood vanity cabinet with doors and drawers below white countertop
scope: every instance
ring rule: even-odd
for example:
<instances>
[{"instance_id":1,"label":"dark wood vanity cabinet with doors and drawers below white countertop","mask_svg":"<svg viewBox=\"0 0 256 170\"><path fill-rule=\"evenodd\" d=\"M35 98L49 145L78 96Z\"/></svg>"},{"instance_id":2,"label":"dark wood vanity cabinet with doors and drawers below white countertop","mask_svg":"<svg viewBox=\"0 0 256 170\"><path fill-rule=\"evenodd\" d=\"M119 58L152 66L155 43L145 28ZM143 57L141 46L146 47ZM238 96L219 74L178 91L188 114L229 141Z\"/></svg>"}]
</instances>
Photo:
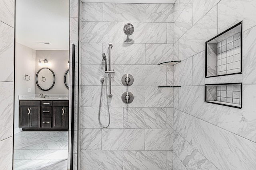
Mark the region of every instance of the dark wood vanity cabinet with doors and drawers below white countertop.
<instances>
[{"instance_id":1,"label":"dark wood vanity cabinet with doors and drawers below white countertop","mask_svg":"<svg viewBox=\"0 0 256 170\"><path fill-rule=\"evenodd\" d=\"M68 100L60 99L19 100L19 128L68 130Z\"/></svg>"}]
</instances>

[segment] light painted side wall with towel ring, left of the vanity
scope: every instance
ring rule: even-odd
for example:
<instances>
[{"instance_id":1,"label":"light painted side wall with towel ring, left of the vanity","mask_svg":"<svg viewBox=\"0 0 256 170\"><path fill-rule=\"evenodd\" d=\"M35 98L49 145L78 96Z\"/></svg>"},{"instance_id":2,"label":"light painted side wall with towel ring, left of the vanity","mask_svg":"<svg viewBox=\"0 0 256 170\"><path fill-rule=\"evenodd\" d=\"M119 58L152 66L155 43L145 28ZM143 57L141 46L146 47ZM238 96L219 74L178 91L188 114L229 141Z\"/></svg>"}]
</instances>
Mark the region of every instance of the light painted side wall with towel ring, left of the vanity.
<instances>
[{"instance_id":1,"label":"light painted side wall with towel ring, left of the vanity","mask_svg":"<svg viewBox=\"0 0 256 170\"><path fill-rule=\"evenodd\" d=\"M14 101L14 133L19 127L19 95L35 94L35 74L36 74L36 51L20 43L15 43L15 101ZM30 80L25 80L25 74L30 76ZM27 77L28 78L28 77ZM31 88L31 92L28 92Z\"/></svg>"}]
</instances>

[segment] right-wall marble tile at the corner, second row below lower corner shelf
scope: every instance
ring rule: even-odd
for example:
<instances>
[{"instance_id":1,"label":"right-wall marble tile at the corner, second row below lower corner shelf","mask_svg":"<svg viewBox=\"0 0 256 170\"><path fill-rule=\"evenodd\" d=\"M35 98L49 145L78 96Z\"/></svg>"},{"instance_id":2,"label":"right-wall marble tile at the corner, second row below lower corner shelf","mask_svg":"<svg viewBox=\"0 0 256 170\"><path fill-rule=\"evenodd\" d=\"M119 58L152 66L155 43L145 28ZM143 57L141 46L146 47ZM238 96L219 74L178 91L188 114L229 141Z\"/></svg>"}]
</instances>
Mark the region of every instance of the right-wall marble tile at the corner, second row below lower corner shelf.
<instances>
[{"instance_id":1,"label":"right-wall marble tile at the corner, second row below lower corner shelf","mask_svg":"<svg viewBox=\"0 0 256 170\"><path fill-rule=\"evenodd\" d=\"M189 143L192 142L192 116L174 109L173 129Z\"/></svg>"}]
</instances>

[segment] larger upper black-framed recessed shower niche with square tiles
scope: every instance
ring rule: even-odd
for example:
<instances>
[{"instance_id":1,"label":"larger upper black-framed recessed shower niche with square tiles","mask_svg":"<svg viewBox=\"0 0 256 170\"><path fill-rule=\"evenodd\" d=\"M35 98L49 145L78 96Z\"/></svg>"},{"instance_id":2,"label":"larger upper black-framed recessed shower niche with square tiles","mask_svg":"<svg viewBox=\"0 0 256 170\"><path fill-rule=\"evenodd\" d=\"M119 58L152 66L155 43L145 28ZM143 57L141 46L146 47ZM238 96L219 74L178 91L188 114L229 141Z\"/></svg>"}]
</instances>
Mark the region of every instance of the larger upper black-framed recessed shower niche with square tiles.
<instances>
[{"instance_id":1,"label":"larger upper black-framed recessed shower niche with square tiles","mask_svg":"<svg viewBox=\"0 0 256 170\"><path fill-rule=\"evenodd\" d=\"M242 21L206 41L205 77L242 73Z\"/></svg>"}]
</instances>

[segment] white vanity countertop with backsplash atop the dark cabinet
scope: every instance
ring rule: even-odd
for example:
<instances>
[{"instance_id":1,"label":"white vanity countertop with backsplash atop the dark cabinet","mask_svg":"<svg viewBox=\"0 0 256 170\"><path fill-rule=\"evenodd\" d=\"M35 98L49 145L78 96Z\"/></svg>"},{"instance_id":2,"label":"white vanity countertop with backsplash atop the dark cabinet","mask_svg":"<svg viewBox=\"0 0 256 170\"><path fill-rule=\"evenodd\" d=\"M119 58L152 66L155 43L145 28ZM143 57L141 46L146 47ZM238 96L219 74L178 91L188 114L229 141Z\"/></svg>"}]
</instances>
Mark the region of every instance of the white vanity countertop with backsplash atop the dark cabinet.
<instances>
[{"instance_id":1,"label":"white vanity countertop with backsplash atop the dark cabinet","mask_svg":"<svg viewBox=\"0 0 256 170\"><path fill-rule=\"evenodd\" d=\"M44 94L45 95L45 94ZM68 100L66 94L46 94L46 98L40 98L39 94L20 95L19 100Z\"/></svg>"}]
</instances>

